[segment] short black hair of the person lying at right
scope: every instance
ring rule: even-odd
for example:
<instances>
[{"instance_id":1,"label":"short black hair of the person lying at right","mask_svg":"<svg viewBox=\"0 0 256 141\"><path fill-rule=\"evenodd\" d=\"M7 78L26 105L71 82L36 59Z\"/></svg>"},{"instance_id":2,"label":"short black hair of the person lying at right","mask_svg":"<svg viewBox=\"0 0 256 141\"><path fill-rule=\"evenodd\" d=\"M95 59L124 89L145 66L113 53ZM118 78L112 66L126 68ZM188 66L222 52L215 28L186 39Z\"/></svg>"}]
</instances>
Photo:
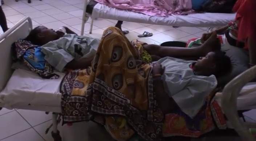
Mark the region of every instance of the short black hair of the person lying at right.
<instances>
[{"instance_id":1,"label":"short black hair of the person lying at right","mask_svg":"<svg viewBox=\"0 0 256 141\"><path fill-rule=\"evenodd\" d=\"M223 51L214 52L214 60L216 64L215 76L220 77L231 72L232 64L230 58Z\"/></svg>"}]
</instances>

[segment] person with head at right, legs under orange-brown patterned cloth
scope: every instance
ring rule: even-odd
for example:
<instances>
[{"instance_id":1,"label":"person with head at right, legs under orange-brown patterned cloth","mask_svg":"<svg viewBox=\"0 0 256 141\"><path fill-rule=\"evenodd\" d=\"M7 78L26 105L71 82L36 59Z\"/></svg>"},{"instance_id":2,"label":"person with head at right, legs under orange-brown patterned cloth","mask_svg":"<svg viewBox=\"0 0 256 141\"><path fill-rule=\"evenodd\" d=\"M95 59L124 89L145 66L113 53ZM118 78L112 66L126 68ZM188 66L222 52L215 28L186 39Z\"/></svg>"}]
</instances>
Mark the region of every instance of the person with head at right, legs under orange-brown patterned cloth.
<instances>
[{"instance_id":1,"label":"person with head at right, legs under orange-brown patterned cloth","mask_svg":"<svg viewBox=\"0 0 256 141\"><path fill-rule=\"evenodd\" d=\"M104 124L115 140L128 140L134 132L146 140L162 137L163 113L181 109L190 119L195 118L216 87L216 76L231 69L231 62L223 52L204 49L168 50L174 55L188 55L188 51L189 56L206 54L198 61L164 57L143 63L141 54L146 53L143 44L134 46L119 28L107 28L90 71L78 70L64 78L65 85L61 88L64 122L94 120ZM147 55L145 61L146 58ZM70 85L74 87L70 89Z\"/></svg>"}]
</instances>

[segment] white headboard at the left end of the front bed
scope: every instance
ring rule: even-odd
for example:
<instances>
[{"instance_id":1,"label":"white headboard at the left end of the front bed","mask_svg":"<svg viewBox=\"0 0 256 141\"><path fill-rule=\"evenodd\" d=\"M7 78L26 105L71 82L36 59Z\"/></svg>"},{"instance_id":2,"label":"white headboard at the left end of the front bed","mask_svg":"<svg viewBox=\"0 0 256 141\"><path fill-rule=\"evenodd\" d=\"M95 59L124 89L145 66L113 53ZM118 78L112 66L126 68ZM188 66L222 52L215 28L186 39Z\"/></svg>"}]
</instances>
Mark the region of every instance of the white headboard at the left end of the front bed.
<instances>
[{"instance_id":1,"label":"white headboard at the left end of the front bed","mask_svg":"<svg viewBox=\"0 0 256 141\"><path fill-rule=\"evenodd\" d=\"M31 18L25 17L0 36L0 92L12 75L11 45L20 38L28 36L32 30Z\"/></svg>"}]
</instances>

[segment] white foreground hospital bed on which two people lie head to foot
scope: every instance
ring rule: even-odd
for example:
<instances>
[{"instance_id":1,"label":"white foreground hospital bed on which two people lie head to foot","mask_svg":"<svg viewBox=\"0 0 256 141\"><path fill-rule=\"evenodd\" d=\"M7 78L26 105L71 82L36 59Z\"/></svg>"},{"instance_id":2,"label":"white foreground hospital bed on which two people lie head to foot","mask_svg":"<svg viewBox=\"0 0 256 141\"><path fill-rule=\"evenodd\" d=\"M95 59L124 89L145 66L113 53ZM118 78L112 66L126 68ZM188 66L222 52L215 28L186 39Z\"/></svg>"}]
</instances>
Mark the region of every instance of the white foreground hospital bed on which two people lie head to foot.
<instances>
[{"instance_id":1,"label":"white foreground hospital bed on which two people lie head to foot","mask_svg":"<svg viewBox=\"0 0 256 141\"><path fill-rule=\"evenodd\" d=\"M60 78L50 80L42 79L32 71L12 69L11 45L17 39L25 38L31 30L31 19L25 17L0 36L0 107L61 113L59 87L65 74L56 72ZM237 110L256 108L256 83L247 84L255 76L256 66L233 79L223 93L215 97L230 122L228 127L233 127L246 141L255 141L248 128L256 128L256 124L242 122ZM53 133L58 133L57 114L53 114Z\"/></svg>"}]
</instances>

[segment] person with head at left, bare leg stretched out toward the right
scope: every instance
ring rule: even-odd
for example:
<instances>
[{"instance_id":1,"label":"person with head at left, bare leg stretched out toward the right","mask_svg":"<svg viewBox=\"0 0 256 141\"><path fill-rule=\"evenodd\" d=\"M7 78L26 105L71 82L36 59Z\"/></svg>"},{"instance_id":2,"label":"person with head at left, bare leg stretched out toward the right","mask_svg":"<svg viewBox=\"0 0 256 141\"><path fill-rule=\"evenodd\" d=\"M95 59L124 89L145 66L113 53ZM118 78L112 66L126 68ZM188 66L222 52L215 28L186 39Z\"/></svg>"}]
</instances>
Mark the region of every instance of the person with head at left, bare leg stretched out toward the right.
<instances>
[{"instance_id":1,"label":"person with head at left, bare leg stretched out toward the right","mask_svg":"<svg viewBox=\"0 0 256 141\"><path fill-rule=\"evenodd\" d=\"M54 31L44 26L38 26L30 32L25 40L41 46L45 60L58 71L63 71L64 68L87 68L91 65L99 45L99 39L78 36L67 27L61 31ZM160 47L153 44L147 45L137 40L132 41L132 44L137 48L141 60L147 63L167 56L197 60L199 57L206 56L208 52L220 49L216 34L196 48Z\"/></svg>"}]
</instances>

